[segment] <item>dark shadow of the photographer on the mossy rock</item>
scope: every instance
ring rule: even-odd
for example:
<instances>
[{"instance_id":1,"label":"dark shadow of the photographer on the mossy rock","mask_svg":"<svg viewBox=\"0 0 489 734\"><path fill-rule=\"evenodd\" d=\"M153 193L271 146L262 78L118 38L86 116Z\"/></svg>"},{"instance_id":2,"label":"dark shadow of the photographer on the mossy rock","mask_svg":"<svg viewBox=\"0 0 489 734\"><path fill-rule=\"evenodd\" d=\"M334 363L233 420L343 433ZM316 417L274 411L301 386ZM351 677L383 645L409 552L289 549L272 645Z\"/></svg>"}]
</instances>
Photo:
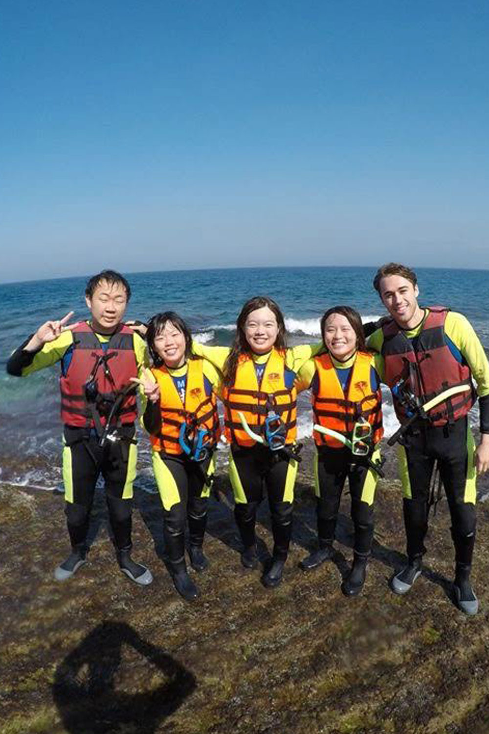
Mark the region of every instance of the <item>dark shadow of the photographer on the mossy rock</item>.
<instances>
[{"instance_id":1,"label":"dark shadow of the photographer on the mossy rock","mask_svg":"<svg viewBox=\"0 0 489 734\"><path fill-rule=\"evenodd\" d=\"M122 661L123 647L136 664ZM129 625L103 622L58 666L53 697L70 734L153 734L195 687L191 672Z\"/></svg>"}]
</instances>

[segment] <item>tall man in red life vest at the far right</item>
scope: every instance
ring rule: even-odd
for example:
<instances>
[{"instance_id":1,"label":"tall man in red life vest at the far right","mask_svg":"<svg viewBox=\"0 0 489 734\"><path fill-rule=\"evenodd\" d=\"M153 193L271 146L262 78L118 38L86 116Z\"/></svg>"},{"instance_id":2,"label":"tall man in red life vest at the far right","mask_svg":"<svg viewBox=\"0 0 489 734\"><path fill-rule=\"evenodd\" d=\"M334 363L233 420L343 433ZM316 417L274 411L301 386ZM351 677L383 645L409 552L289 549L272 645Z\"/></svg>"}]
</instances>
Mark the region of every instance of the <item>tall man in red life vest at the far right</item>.
<instances>
[{"instance_id":1,"label":"tall man in red life vest at the far right","mask_svg":"<svg viewBox=\"0 0 489 734\"><path fill-rule=\"evenodd\" d=\"M452 518L455 545L455 600L466 614L476 614L478 601L470 583L476 531L476 475L489 468L489 364L465 316L442 306L421 308L416 274L389 263L378 269L374 287L391 319L383 319L368 344L383 356L383 382L391 388L401 425L422 405L449 388L467 389L427 411L406 429L400 446L408 565L391 580L405 594L422 573L424 537L435 462ZM381 372L381 367L379 372ZM468 412L477 399L481 440L477 450ZM411 401L411 407L410 407ZM414 411L415 412L415 411Z\"/></svg>"}]
</instances>

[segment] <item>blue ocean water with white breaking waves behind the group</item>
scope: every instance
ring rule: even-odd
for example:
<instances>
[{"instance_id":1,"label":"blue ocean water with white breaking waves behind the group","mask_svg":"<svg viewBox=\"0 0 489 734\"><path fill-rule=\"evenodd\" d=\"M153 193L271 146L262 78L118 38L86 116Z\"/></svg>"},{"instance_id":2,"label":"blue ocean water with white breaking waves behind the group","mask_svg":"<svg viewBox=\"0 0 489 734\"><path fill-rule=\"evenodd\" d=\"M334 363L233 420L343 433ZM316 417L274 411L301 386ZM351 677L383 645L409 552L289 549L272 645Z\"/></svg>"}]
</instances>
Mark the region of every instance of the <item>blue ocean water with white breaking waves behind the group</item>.
<instances>
[{"instance_id":1,"label":"blue ocean water with white breaking waves behind the group","mask_svg":"<svg viewBox=\"0 0 489 734\"><path fill-rule=\"evenodd\" d=\"M468 317L489 352L489 272L418 269L420 304L449 305ZM289 344L320 341L319 322L331 306L352 305L362 319L378 318L384 309L372 288L375 268L246 268L125 274L133 295L127 319L146 320L153 313L174 310L188 322L194 336L207 344L230 344L243 302L268 295L285 316ZM74 319L87 318L84 302L87 278L31 281L0 285L0 481L53 490L62 487L59 419L59 368L40 371L28 379L9 377L4 366L10 353L48 319L74 310ZM389 391L384 393L386 434L397 421ZM471 420L477 422L477 409ZM309 395L299 399L298 435L312 429ZM219 460L226 461L224 446ZM150 450L141 435L137 483L152 491Z\"/></svg>"}]
</instances>

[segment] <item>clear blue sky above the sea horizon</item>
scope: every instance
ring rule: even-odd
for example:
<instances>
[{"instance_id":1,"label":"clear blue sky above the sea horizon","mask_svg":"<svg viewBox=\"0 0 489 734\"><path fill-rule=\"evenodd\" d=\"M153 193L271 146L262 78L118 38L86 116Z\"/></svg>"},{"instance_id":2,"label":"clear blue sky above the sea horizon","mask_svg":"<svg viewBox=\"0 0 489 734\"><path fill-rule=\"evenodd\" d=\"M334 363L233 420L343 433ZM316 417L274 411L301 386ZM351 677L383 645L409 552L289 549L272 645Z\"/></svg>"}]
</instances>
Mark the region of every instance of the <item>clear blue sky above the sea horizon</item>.
<instances>
[{"instance_id":1,"label":"clear blue sky above the sea horizon","mask_svg":"<svg viewBox=\"0 0 489 734\"><path fill-rule=\"evenodd\" d=\"M0 281L489 268L485 1L1 0Z\"/></svg>"}]
</instances>

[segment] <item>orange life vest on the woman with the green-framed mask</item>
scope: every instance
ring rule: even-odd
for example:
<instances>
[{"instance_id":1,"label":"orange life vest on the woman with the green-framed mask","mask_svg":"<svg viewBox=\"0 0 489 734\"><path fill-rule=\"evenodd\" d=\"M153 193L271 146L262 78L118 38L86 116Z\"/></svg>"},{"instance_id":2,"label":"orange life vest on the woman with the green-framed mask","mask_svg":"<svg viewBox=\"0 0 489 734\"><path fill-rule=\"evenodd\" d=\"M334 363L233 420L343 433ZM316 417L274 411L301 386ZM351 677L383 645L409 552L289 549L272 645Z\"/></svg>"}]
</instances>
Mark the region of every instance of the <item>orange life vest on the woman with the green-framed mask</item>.
<instances>
[{"instance_id":1,"label":"orange life vest on the woman with the green-framed mask","mask_svg":"<svg viewBox=\"0 0 489 734\"><path fill-rule=\"evenodd\" d=\"M382 393L380 387L372 393L370 369L372 355L357 352L350 372L346 394L339 382L337 371L328 354L315 357L319 388L312 396L314 421L320 426L342 433L350 439L353 426L364 418L372 426L372 443L375 446L383 436ZM341 441L313 432L317 446L343 448Z\"/></svg>"}]
</instances>

